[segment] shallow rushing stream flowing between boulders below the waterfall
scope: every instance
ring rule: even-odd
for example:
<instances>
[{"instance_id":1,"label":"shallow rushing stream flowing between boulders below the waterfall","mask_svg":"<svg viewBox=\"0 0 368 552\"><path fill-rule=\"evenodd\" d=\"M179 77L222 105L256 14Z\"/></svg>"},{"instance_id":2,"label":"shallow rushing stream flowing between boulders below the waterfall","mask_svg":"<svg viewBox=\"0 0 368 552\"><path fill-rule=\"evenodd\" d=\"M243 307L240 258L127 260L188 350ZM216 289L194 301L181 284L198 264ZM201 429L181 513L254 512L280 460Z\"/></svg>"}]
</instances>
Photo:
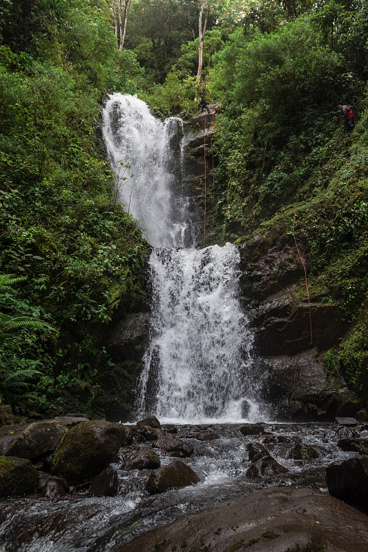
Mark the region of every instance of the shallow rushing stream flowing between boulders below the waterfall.
<instances>
[{"instance_id":1,"label":"shallow rushing stream flowing between boulders below the waterfall","mask_svg":"<svg viewBox=\"0 0 368 552\"><path fill-rule=\"evenodd\" d=\"M206 440L209 428L212 438ZM120 469L127 453L121 449L113 464L119 476L115 497L90 497L87 485L85 491L76 489L61 500L1 502L0 551L114 552L142 531L267 486L311 486L327 492L325 466L356 455L338 448L341 429L332 424L264 424L266 433L258 437L244 436L239 429L240 424L177 426L175 437L194 449L185 462L200 477L196 486L149 495L144 486L150 470ZM368 431L364 433L368 437ZM263 443L287 471L271 477L247 476L251 462L246 446L254 442ZM296 444L305 451L298 460L289 458ZM151 442L135 443L130 449L155 450L162 466L173 460L169 453L151 447Z\"/></svg>"}]
</instances>

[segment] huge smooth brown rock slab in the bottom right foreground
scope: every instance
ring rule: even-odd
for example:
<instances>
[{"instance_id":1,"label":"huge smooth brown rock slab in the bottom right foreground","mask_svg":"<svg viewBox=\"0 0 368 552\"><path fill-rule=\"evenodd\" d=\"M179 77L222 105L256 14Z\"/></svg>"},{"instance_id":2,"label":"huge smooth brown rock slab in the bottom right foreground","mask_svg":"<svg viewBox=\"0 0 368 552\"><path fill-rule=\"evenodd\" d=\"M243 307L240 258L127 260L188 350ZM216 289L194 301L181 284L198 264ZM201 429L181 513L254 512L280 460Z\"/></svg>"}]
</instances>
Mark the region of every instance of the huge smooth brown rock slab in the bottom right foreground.
<instances>
[{"instance_id":1,"label":"huge smooth brown rock slab in the bottom right foreground","mask_svg":"<svg viewBox=\"0 0 368 552\"><path fill-rule=\"evenodd\" d=\"M182 517L116 552L235 552L253 545L257 552L363 551L367 517L316 489L270 487Z\"/></svg>"}]
</instances>

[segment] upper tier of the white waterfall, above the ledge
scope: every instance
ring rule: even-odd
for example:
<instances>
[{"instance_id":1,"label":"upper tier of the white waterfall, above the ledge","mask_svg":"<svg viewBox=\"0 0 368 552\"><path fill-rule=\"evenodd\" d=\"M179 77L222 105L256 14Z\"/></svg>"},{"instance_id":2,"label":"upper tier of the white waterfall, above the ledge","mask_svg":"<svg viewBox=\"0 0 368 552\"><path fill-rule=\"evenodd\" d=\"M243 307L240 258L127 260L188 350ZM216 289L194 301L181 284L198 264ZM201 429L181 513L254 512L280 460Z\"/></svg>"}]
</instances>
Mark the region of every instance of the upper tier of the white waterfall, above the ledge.
<instances>
[{"instance_id":1,"label":"upper tier of the white waterfall, above the ledge","mask_svg":"<svg viewBox=\"0 0 368 552\"><path fill-rule=\"evenodd\" d=\"M155 247L195 244L193 201L183 186L182 119L162 122L144 101L113 94L106 102L103 123L117 200L145 230L148 242Z\"/></svg>"}]
</instances>

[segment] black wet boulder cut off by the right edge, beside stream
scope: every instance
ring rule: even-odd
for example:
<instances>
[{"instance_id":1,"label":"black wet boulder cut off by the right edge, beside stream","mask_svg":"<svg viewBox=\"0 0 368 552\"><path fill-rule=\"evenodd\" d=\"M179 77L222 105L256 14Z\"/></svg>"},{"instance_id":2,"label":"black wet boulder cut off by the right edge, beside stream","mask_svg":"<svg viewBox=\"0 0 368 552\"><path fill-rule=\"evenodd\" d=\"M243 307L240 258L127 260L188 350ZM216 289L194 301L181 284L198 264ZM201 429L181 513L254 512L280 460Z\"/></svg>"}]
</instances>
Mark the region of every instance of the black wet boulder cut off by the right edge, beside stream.
<instances>
[{"instance_id":1,"label":"black wet boulder cut off by the right edge, beside stream","mask_svg":"<svg viewBox=\"0 0 368 552\"><path fill-rule=\"evenodd\" d=\"M368 456L331 464L326 482L330 495L368 511Z\"/></svg>"}]
</instances>

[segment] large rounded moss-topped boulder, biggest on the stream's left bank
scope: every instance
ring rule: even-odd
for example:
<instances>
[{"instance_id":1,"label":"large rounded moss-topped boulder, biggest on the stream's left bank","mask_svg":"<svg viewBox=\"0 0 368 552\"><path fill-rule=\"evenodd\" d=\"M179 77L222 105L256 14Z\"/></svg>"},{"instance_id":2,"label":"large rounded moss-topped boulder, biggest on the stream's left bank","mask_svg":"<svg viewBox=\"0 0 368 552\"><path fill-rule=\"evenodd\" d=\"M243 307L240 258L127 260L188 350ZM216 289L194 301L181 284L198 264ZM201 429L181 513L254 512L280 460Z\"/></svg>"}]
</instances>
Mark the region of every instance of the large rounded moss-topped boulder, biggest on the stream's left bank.
<instances>
[{"instance_id":1,"label":"large rounded moss-topped boulder, biggest on the stream's left bank","mask_svg":"<svg viewBox=\"0 0 368 552\"><path fill-rule=\"evenodd\" d=\"M91 420L66 433L52 459L52 472L75 484L94 477L110 464L126 439L124 426Z\"/></svg>"}]
</instances>

